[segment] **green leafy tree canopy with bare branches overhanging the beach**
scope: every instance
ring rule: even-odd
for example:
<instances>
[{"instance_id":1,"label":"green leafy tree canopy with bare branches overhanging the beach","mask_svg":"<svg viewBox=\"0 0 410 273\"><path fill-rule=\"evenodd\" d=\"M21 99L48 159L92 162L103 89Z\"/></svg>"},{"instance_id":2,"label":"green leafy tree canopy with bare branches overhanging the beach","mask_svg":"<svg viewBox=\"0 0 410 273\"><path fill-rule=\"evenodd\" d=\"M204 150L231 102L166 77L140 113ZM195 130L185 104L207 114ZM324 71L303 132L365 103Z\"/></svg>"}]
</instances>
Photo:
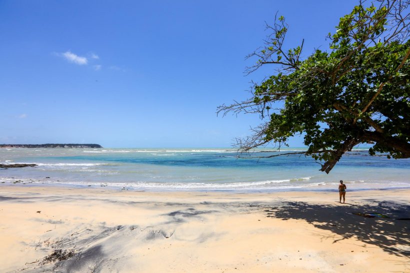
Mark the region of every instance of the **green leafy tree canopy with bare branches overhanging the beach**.
<instances>
[{"instance_id":1,"label":"green leafy tree canopy with bare branches overhanging the beach","mask_svg":"<svg viewBox=\"0 0 410 273\"><path fill-rule=\"evenodd\" d=\"M250 99L217 110L260 115L253 134L237 139L239 150L268 143L280 148L303 133L308 147L303 153L320 161L326 173L360 143L374 144L370 155L410 157L408 4L360 1L328 34L329 48L304 59L303 40L284 48L288 25L275 16L273 25L266 25L264 45L247 56L256 63L245 70L249 74L270 64L273 75L254 83Z\"/></svg>"}]
</instances>

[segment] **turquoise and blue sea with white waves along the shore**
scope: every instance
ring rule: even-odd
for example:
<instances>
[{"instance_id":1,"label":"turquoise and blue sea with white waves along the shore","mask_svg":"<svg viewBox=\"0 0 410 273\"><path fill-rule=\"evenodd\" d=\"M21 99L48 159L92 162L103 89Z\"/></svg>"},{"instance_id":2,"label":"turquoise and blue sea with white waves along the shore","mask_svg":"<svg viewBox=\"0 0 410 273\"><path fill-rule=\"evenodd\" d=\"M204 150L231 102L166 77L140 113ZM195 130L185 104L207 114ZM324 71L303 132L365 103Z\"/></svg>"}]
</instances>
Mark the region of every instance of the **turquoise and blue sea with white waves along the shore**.
<instances>
[{"instance_id":1,"label":"turquoise and blue sea with white waves along the shore","mask_svg":"<svg viewBox=\"0 0 410 273\"><path fill-rule=\"evenodd\" d=\"M283 151L302 149L285 149ZM262 149L250 156L277 152ZM283 152L281 151L281 152ZM249 156L247 154L243 156ZM36 163L34 168L0 170L0 181L15 180L129 190L289 191L410 187L410 159L387 159L353 151L330 174L311 157L237 158L233 149L1 149L0 163ZM49 177L49 178L46 178Z\"/></svg>"}]
</instances>

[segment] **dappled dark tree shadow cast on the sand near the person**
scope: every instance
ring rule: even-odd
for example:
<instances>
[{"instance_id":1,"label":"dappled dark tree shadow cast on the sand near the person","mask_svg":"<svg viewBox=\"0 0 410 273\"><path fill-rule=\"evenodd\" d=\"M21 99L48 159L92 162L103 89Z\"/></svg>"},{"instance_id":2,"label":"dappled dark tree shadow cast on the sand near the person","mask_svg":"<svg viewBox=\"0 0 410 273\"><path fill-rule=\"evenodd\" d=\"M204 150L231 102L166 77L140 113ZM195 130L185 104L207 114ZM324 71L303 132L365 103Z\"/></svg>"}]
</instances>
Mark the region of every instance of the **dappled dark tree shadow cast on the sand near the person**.
<instances>
[{"instance_id":1,"label":"dappled dark tree shadow cast on the sand near the person","mask_svg":"<svg viewBox=\"0 0 410 273\"><path fill-rule=\"evenodd\" d=\"M284 206L264 210L267 217L282 220L299 219L316 228L337 234L341 239L356 237L397 256L410 256L410 206L392 202L372 201L367 205L311 205L305 202L285 202ZM379 213L389 218L367 218L353 213ZM337 238L339 238L339 236Z\"/></svg>"}]
</instances>

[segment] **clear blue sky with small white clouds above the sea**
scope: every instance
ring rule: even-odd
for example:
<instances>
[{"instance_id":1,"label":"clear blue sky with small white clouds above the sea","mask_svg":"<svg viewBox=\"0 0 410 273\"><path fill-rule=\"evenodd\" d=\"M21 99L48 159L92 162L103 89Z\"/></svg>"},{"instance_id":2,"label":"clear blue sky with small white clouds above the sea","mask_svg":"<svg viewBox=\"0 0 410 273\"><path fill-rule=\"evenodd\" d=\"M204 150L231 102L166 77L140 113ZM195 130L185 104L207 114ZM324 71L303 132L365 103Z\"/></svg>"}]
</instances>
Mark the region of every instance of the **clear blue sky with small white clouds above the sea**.
<instances>
[{"instance_id":1,"label":"clear blue sky with small white clouds above the sea","mask_svg":"<svg viewBox=\"0 0 410 273\"><path fill-rule=\"evenodd\" d=\"M264 21L308 55L356 3L0 0L0 143L229 147L259 119L216 107L273 73L243 74Z\"/></svg>"}]
</instances>

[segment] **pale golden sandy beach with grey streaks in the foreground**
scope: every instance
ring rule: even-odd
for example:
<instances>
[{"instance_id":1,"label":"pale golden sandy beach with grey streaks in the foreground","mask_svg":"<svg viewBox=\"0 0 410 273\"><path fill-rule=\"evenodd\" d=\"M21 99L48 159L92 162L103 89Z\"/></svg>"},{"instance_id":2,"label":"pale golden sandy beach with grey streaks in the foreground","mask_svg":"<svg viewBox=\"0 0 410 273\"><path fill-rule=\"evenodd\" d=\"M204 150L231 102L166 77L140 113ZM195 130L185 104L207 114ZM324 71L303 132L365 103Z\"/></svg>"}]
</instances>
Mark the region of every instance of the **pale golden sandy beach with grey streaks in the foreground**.
<instances>
[{"instance_id":1,"label":"pale golden sandy beach with grey streaks in the foreground","mask_svg":"<svg viewBox=\"0 0 410 273\"><path fill-rule=\"evenodd\" d=\"M410 190L346 196L1 186L0 272L410 272Z\"/></svg>"}]
</instances>

